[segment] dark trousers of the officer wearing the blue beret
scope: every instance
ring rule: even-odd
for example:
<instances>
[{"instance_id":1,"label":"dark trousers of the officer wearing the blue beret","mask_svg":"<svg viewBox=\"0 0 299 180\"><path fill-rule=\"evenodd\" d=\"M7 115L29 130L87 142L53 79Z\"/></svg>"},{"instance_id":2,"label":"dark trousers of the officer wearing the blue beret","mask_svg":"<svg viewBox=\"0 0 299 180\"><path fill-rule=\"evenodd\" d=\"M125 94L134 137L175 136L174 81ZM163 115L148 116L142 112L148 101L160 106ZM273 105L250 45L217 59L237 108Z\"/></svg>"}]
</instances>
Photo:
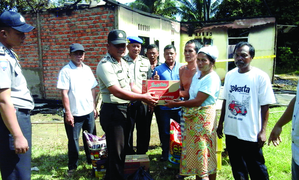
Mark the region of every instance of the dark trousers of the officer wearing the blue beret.
<instances>
[{"instance_id":1,"label":"dark trousers of the officer wearing the blue beret","mask_svg":"<svg viewBox=\"0 0 299 180\"><path fill-rule=\"evenodd\" d=\"M147 105L141 101L131 102L130 117L131 117L131 130L129 144L131 149L126 153L127 155L145 154L148 151L150 140L150 125L152 120L147 117ZM136 153L133 150L133 132L136 124Z\"/></svg>"}]
</instances>

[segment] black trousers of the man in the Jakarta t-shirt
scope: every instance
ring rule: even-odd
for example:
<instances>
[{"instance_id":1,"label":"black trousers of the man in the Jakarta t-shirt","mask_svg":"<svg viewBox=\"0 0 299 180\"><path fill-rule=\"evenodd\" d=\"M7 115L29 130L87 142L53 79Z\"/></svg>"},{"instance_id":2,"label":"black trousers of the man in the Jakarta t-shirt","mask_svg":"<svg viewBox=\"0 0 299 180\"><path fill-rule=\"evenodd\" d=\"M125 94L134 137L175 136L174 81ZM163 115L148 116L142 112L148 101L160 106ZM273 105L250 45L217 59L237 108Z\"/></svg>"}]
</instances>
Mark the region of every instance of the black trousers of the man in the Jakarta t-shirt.
<instances>
[{"instance_id":1,"label":"black trousers of the man in the Jakarta t-shirt","mask_svg":"<svg viewBox=\"0 0 299 180\"><path fill-rule=\"evenodd\" d=\"M257 142L238 139L236 136L225 135L231 170L235 180L269 180L262 148Z\"/></svg>"}]
</instances>

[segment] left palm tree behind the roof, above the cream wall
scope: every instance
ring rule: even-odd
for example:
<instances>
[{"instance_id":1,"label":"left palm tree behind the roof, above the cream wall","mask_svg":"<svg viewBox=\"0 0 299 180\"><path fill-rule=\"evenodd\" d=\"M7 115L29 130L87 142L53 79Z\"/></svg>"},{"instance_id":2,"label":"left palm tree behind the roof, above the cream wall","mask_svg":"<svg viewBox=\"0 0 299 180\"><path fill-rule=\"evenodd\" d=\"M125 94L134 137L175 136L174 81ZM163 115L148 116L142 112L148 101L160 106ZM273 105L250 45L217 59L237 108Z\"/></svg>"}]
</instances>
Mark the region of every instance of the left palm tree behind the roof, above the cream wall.
<instances>
[{"instance_id":1,"label":"left palm tree behind the roof, above the cream wall","mask_svg":"<svg viewBox=\"0 0 299 180\"><path fill-rule=\"evenodd\" d=\"M135 0L133 2L126 3L127 6L134 7L135 9L166 16L168 18L175 19L176 13L178 13L179 1L177 0Z\"/></svg>"}]
</instances>

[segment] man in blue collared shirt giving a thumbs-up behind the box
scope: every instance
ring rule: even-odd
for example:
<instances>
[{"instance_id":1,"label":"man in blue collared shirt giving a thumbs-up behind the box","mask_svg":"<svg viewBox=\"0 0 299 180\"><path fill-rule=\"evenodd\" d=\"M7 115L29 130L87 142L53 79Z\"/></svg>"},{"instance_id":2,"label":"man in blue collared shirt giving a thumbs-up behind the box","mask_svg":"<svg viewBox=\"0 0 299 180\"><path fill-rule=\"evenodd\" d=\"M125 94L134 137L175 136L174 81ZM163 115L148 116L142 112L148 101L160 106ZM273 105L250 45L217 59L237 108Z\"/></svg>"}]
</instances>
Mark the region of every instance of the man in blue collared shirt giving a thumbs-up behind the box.
<instances>
[{"instance_id":1,"label":"man in blue collared shirt giving a thumbs-up behind the box","mask_svg":"<svg viewBox=\"0 0 299 180\"><path fill-rule=\"evenodd\" d=\"M167 45L164 48L165 63L157 66L153 72L153 80L180 80L179 68L181 63L176 62L176 48L174 45ZM168 108L160 106L160 120L157 120L159 138L162 144L162 157L160 161L168 160L170 140L170 119L180 123L181 107ZM158 122L159 121L159 122Z\"/></svg>"}]
</instances>

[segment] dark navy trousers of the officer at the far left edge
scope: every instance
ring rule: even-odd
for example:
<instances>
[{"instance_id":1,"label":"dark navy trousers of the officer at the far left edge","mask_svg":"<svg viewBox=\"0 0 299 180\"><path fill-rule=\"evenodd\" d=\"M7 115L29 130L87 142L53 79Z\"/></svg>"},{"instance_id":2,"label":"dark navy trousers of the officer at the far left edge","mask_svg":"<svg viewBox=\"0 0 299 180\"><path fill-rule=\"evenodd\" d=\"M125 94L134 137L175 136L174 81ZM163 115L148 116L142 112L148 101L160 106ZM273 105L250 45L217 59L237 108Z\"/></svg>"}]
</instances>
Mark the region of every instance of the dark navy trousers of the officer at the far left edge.
<instances>
[{"instance_id":1,"label":"dark navy trousers of the officer at the far left edge","mask_svg":"<svg viewBox=\"0 0 299 180\"><path fill-rule=\"evenodd\" d=\"M29 150L16 154L13 136L0 116L0 171L2 180L31 179L31 121L29 109L16 109L19 126L28 141Z\"/></svg>"}]
</instances>

